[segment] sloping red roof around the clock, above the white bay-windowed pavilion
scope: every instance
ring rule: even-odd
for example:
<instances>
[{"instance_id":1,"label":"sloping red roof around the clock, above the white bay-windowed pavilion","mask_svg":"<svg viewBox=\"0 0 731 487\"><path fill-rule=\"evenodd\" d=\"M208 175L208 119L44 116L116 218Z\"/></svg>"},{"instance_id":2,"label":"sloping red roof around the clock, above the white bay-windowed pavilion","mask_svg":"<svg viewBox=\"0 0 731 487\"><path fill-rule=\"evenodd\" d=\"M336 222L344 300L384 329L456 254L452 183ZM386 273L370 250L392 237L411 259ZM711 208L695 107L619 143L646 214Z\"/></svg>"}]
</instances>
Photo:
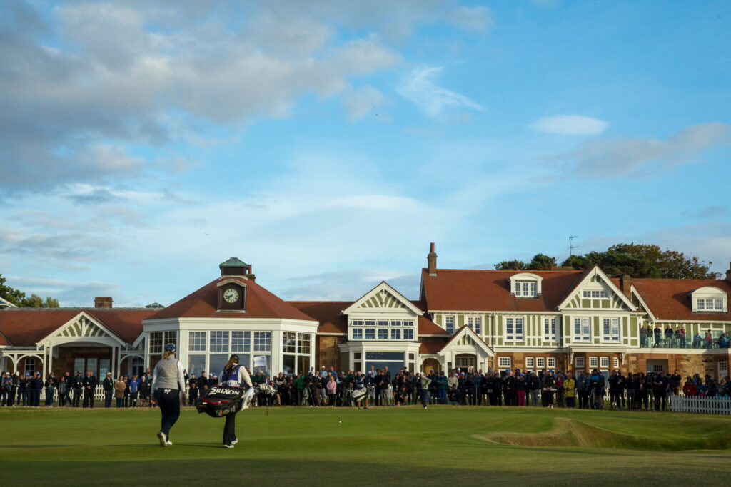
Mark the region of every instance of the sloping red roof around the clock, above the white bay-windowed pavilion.
<instances>
[{"instance_id":1,"label":"sloping red roof around the clock, above the white bay-windowed pavilion","mask_svg":"<svg viewBox=\"0 0 731 487\"><path fill-rule=\"evenodd\" d=\"M217 284L221 280L238 280L246 284L246 312L219 312ZM312 318L279 297L271 294L253 280L224 276L213 280L180 301L152 315L149 320L162 318L280 318L312 321Z\"/></svg>"}]
</instances>

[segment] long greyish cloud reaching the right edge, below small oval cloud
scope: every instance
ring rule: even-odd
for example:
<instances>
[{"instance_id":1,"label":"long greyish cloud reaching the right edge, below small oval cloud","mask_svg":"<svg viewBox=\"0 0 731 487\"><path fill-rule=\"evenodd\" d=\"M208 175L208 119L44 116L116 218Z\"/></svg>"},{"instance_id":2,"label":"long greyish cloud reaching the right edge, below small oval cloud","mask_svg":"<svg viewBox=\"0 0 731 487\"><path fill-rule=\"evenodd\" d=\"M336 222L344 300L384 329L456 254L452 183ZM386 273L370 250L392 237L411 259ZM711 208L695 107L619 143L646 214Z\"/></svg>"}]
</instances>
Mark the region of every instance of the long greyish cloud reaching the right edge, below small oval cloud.
<instances>
[{"instance_id":1,"label":"long greyish cloud reaching the right edge, below small oval cloud","mask_svg":"<svg viewBox=\"0 0 731 487\"><path fill-rule=\"evenodd\" d=\"M667 139L590 140L561 158L583 176L626 175L650 164L678 166L700 161L705 150L731 145L731 125L700 123L678 131Z\"/></svg>"}]
</instances>

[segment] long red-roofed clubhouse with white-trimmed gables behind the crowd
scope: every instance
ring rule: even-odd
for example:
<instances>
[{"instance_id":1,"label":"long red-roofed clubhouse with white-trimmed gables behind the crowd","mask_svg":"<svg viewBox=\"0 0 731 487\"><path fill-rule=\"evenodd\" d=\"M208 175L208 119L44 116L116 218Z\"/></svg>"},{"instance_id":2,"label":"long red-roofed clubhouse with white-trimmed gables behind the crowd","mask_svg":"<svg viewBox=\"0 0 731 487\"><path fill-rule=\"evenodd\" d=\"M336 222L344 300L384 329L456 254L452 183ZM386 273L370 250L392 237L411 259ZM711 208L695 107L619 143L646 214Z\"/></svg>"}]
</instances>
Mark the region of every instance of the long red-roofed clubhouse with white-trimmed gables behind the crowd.
<instances>
[{"instance_id":1,"label":"long red-roofed clubhouse with white-trimmed gables behind the crowd","mask_svg":"<svg viewBox=\"0 0 731 487\"><path fill-rule=\"evenodd\" d=\"M599 266L438 269L433 244L427 264L418 300L382 282L354 302L286 302L238 258L168 307L96 298L89 308L34 310L0 300L0 370L140 373L173 342L197 374L217 374L237 353L268 374L387 366L729 375L731 349L719 345L731 332L731 269L718 280L610 277Z\"/></svg>"}]
</instances>

